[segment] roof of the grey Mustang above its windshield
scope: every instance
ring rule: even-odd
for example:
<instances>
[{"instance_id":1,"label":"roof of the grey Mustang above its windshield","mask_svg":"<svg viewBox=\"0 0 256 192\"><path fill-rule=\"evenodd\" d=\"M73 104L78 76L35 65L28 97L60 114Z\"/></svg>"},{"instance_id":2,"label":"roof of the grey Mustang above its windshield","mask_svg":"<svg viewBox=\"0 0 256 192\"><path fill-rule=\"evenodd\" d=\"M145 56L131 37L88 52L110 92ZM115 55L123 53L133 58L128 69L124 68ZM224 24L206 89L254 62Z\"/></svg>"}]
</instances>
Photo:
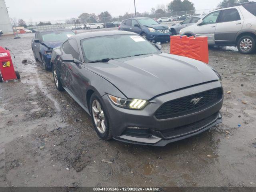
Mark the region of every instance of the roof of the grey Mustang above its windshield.
<instances>
[{"instance_id":1,"label":"roof of the grey Mustang above its windshield","mask_svg":"<svg viewBox=\"0 0 256 192\"><path fill-rule=\"evenodd\" d=\"M76 40L82 40L82 39L86 39L86 38L92 38L92 37L100 37L100 36L108 36L108 35L138 35L136 33L133 32L128 32L128 31L118 31L118 30L114 30L114 31L97 31L97 32L85 32L85 33L80 33L77 35L72 36L72 39L76 39Z\"/></svg>"}]
</instances>

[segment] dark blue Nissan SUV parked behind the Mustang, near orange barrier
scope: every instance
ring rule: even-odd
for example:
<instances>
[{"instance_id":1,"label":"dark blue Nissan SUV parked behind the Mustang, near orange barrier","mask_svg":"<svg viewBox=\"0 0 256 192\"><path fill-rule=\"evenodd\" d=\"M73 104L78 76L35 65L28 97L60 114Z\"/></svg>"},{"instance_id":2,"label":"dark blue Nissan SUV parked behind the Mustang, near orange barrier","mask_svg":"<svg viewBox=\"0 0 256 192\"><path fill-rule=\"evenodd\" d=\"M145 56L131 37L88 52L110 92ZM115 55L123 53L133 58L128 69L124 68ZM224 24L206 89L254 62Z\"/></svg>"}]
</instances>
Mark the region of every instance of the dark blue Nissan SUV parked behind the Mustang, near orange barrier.
<instances>
[{"instance_id":1,"label":"dark blue Nissan SUV parked behind the Mustang, near orange barrier","mask_svg":"<svg viewBox=\"0 0 256 192\"><path fill-rule=\"evenodd\" d=\"M171 35L167 25L158 24L153 19L146 17L124 20L118 30L135 32L145 39L155 42L170 41Z\"/></svg>"}]
</instances>

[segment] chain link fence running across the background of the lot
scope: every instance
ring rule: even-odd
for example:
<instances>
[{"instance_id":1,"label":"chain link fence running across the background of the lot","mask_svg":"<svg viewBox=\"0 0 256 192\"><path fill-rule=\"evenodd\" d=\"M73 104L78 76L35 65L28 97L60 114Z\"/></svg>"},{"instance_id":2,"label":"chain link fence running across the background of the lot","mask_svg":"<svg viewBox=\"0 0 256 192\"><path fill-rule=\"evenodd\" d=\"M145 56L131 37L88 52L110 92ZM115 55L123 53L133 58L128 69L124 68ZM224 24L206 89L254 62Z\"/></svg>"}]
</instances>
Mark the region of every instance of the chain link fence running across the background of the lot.
<instances>
[{"instance_id":1,"label":"chain link fence running across the background of the lot","mask_svg":"<svg viewBox=\"0 0 256 192\"><path fill-rule=\"evenodd\" d=\"M136 17L148 17L153 19L158 19L162 17L170 18L171 16L182 16L182 15L206 15L214 9L204 9L204 10L191 10L182 12L164 12L164 13L154 13L154 14L136 14ZM108 27L118 27L122 20L128 18L134 18L135 14L126 14L124 16L117 17L96 17L96 18L72 18L67 20L50 20L43 22L27 22L28 29L34 30L51 30L51 29L94 29L94 28L108 28ZM108 25L109 22L113 22L114 25ZM16 25L13 24L15 29Z\"/></svg>"}]
</instances>

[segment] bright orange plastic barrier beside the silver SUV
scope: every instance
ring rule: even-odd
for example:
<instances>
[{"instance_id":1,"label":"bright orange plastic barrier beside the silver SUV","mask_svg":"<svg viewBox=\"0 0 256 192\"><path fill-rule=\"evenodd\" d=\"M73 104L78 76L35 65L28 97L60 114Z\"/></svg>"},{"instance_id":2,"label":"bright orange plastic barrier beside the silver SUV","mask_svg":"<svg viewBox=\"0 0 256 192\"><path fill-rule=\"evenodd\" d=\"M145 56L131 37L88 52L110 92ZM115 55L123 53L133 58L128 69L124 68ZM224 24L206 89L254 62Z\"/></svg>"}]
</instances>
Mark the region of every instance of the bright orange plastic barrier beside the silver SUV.
<instances>
[{"instance_id":1,"label":"bright orange plastic barrier beside the silver SUV","mask_svg":"<svg viewBox=\"0 0 256 192\"><path fill-rule=\"evenodd\" d=\"M180 55L209 63L207 37L171 36L170 54Z\"/></svg>"}]
</instances>

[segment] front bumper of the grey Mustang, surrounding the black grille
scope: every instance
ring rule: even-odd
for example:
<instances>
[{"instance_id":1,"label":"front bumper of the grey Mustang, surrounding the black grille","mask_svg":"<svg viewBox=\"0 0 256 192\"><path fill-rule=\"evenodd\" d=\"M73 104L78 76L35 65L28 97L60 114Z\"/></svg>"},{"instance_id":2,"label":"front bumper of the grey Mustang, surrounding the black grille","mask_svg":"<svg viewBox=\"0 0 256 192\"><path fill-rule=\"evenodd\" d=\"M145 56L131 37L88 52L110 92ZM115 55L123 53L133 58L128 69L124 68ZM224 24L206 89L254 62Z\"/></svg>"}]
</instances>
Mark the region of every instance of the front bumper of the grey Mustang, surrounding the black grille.
<instances>
[{"instance_id":1,"label":"front bumper of the grey Mustang, surrounding the black grille","mask_svg":"<svg viewBox=\"0 0 256 192\"><path fill-rule=\"evenodd\" d=\"M113 138L134 144L165 146L170 142L204 132L222 122L220 109L222 108L223 97L218 102L207 106L207 108L182 114L182 116L157 119L155 112L162 104L170 100L215 88L221 88L219 81L164 94L150 100L150 104L143 110L129 110L117 107L112 104L107 95L104 95L102 99L106 105L105 110L109 114L109 124L112 128Z\"/></svg>"}]
</instances>

